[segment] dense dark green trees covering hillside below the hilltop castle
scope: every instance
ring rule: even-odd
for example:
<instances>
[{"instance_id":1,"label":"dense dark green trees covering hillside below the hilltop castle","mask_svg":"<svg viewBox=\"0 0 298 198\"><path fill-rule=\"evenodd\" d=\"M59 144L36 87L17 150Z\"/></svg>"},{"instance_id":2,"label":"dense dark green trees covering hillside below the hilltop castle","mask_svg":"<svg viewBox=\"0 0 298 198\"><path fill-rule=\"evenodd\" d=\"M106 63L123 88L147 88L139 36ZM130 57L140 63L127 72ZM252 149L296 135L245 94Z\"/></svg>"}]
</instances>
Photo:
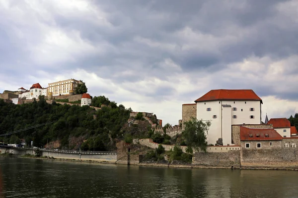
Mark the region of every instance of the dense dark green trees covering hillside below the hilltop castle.
<instances>
[{"instance_id":1,"label":"dense dark green trees covering hillside below the hilltop castle","mask_svg":"<svg viewBox=\"0 0 298 198\"><path fill-rule=\"evenodd\" d=\"M108 101L111 102L111 101ZM123 139L122 126L127 122L131 109L122 104L114 108L49 104L45 99L25 104L6 103L0 99L0 134L36 126L49 121L54 123L0 137L0 142L19 142L25 139L27 145L43 147L50 141L59 140L61 148L68 148L72 137L82 137L90 150L114 150L113 139ZM94 140L94 141L93 141ZM74 144L73 147L77 145Z\"/></svg>"}]
</instances>

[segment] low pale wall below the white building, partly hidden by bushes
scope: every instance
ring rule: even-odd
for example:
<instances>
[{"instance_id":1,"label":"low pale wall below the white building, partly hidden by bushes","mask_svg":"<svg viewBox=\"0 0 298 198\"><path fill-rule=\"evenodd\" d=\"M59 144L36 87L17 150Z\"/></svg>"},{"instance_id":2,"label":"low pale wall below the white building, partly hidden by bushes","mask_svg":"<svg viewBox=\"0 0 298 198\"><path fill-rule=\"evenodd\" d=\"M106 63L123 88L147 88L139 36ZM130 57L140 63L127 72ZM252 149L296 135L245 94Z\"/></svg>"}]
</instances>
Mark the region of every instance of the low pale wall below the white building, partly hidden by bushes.
<instances>
[{"instance_id":1,"label":"low pale wall below the white building, partly hidden by bushes","mask_svg":"<svg viewBox=\"0 0 298 198\"><path fill-rule=\"evenodd\" d=\"M146 147L149 148L158 148L157 143L154 143L152 141L152 139L146 138L146 139L139 139L139 140L134 140L133 141L134 144L140 144L140 145L144 145ZM162 147L164 147L165 150L170 150L173 149L175 145L162 145ZM186 146L180 146L180 148L182 149L183 152L186 152ZM195 149L193 149L195 151ZM206 152L229 152L229 151L235 151L235 150L240 150L240 147L238 146L208 146L206 149ZM199 150L199 152L204 152L202 150Z\"/></svg>"}]
</instances>

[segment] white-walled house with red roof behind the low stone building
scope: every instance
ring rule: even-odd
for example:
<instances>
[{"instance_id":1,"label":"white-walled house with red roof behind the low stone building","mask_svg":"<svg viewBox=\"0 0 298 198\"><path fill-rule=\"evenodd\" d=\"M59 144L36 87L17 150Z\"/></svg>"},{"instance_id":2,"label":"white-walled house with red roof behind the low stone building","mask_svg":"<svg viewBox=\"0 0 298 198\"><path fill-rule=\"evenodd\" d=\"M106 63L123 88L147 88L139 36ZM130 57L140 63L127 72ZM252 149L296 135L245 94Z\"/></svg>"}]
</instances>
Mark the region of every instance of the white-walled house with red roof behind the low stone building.
<instances>
[{"instance_id":1,"label":"white-walled house with red roof behind the low stone building","mask_svg":"<svg viewBox=\"0 0 298 198\"><path fill-rule=\"evenodd\" d=\"M291 137L291 123L287 118L271 118L268 124L272 124L273 128L284 138Z\"/></svg>"}]
</instances>

